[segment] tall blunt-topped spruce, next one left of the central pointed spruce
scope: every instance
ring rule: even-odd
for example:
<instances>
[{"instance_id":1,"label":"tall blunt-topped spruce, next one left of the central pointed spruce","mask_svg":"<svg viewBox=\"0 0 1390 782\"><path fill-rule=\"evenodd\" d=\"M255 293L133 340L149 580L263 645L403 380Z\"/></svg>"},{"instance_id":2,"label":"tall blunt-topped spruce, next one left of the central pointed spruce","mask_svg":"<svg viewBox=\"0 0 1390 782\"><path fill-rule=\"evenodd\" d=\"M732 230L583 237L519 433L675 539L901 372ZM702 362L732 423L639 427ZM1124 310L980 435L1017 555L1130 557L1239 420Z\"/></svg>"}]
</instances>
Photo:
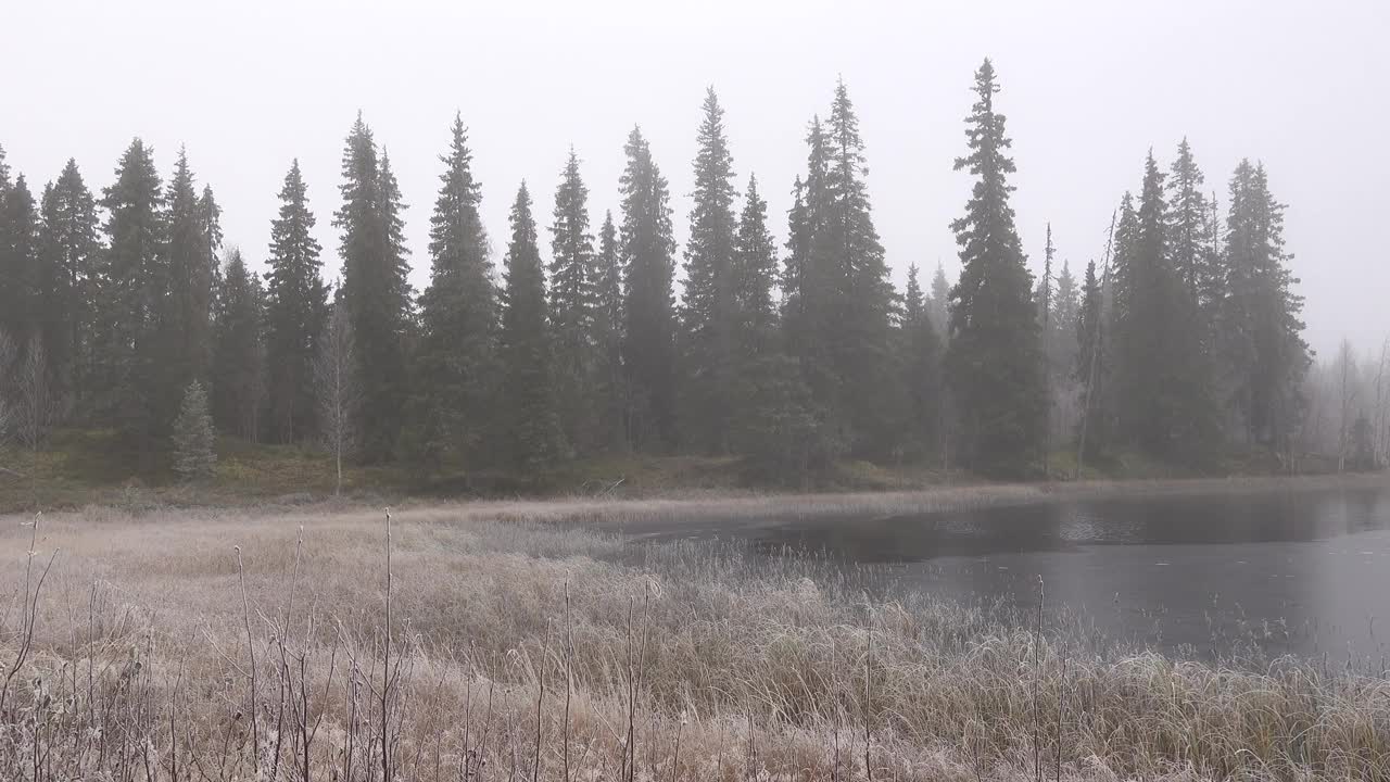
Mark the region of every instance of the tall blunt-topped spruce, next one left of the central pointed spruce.
<instances>
[{"instance_id":1,"label":"tall blunt-topped spruce, next one left of the central pointed spruce","mask_svg":"<svg viewBox=\"0 0 1390 782\"><path fill-rule=\"evenodd\" d=\"M632 128L624 152L619 248L628 437L639 449L664 451L676 442L676 239L670 192L639 128Z\"/></svg>"}]
</instances>

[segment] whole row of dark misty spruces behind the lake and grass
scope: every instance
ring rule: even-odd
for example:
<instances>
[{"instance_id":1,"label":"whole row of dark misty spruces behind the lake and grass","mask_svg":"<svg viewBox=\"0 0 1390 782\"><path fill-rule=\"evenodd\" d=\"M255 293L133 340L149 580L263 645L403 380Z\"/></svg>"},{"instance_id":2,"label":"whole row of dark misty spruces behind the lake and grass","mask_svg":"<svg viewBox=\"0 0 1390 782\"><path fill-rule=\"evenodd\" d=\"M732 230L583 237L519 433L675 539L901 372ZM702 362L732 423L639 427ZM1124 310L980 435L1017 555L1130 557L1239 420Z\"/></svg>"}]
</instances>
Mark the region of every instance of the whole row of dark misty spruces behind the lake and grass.
<instances>
[{"instance_id":1,"label":"whole row of dark misty spruces behind the lake and grass","mask_svg":"<svg viewBox=\"0 0 1390 782\"><path fill-rule=\"evenodd\" d=\"M499 270L456 117L418 292L391 159L361 114L334 285L297 161L254 274L182 150L164 182L135 139L100 195L70 160L38 200L0 150L0 398L29 366L61 401L56 422L153 454L196 385L222 433L434 470L626 449L741 455L788 483L842 456L1009 477L1055 472L1059 449L1198 463L1238 442L1291 459L1311 356L1265 168L1237 166L1220 217L1186 141L1166 171L1151 152L1099 263L1080 278L1058 266L1049 227L1034 277L998 92L986 60L955 161L973 179L951 223L962 273L949 285L938 264L930 289L916 266L905 289L890 280L844 82L808 124L780 245L710 89L684 248L634 127L619 213L595 221L571 149L543 227L528 184L516 191Z\"/></svg>"}]
</instances>

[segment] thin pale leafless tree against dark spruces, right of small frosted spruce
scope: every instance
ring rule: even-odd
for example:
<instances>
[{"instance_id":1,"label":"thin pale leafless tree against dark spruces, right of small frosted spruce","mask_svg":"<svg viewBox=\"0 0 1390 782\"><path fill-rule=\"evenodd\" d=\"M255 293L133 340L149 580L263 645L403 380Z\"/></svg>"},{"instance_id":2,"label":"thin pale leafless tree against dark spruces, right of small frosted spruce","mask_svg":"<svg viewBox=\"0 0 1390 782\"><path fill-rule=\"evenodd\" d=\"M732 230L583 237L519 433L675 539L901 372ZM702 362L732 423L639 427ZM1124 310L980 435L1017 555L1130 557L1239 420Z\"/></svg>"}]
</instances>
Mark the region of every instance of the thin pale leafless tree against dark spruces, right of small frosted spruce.
<instances>
[{"instance_id":1,"label":"thin pale leafless tree against dark spruces, right of small frosted spruce","mask_svg":"<svg viewBox=\"0 0 1390 782\"><path fill-rule=\"evenodd\" d=\"M336 483L334 495L343 490L343 456L357 448L357 408L361 406L361 387L357 384L352 319L339 302L328 317L314 359L314 383L318 388L318 429L324 447L334 455Z\"/></svg>"}]
</instances>

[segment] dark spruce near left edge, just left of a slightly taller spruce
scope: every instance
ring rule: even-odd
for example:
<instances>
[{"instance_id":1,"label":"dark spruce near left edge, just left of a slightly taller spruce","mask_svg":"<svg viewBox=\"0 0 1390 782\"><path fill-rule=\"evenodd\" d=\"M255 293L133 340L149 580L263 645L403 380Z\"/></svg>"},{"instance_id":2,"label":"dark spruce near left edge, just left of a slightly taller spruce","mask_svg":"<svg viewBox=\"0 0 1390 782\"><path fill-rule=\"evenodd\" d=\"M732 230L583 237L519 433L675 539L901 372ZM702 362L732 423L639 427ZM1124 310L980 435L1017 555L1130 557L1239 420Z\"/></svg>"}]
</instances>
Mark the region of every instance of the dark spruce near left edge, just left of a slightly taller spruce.
<instances>
[{"instance_id":1,"label":"dark spruce near left edge, just left of a slightly taller spruce","mask_svg":"<svg viewBox=\"0 0 1390 782\"><path fill-rule=\"evenodd\" d=\"M44 188L40 212L39 257L49 280L42 303L44 352L53 367L56 391L68 397L74 413L82 416L95 359L93 295L101 244L96 200L82 181L76 160L68 159L57 182Z\"/></svg>"}]
</instances>

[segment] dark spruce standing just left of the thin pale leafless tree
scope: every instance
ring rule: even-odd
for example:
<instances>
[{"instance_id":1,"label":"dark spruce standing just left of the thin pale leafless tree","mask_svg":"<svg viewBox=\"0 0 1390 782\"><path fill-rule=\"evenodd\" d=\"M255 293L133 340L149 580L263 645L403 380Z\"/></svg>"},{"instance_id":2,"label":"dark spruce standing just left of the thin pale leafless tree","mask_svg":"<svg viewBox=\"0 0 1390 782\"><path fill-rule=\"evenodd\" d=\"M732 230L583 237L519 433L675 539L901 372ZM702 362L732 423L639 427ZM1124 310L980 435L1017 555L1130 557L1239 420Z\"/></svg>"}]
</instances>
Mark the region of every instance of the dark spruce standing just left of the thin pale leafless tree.
<instances>
[{"instance_id":1,"label":"dark spruce standing just left of the thin pale leafless tree","mask_svg":"<svg viewBox=\"0 0 1390 782\"><path fill-rule=\"evenodd\" d=\"M314 356L328 312L317 220L297 159L285 174L279 202L265 271L265 395L271 438L296 442L314 431Z\"/></svg>"}]
</instances>

